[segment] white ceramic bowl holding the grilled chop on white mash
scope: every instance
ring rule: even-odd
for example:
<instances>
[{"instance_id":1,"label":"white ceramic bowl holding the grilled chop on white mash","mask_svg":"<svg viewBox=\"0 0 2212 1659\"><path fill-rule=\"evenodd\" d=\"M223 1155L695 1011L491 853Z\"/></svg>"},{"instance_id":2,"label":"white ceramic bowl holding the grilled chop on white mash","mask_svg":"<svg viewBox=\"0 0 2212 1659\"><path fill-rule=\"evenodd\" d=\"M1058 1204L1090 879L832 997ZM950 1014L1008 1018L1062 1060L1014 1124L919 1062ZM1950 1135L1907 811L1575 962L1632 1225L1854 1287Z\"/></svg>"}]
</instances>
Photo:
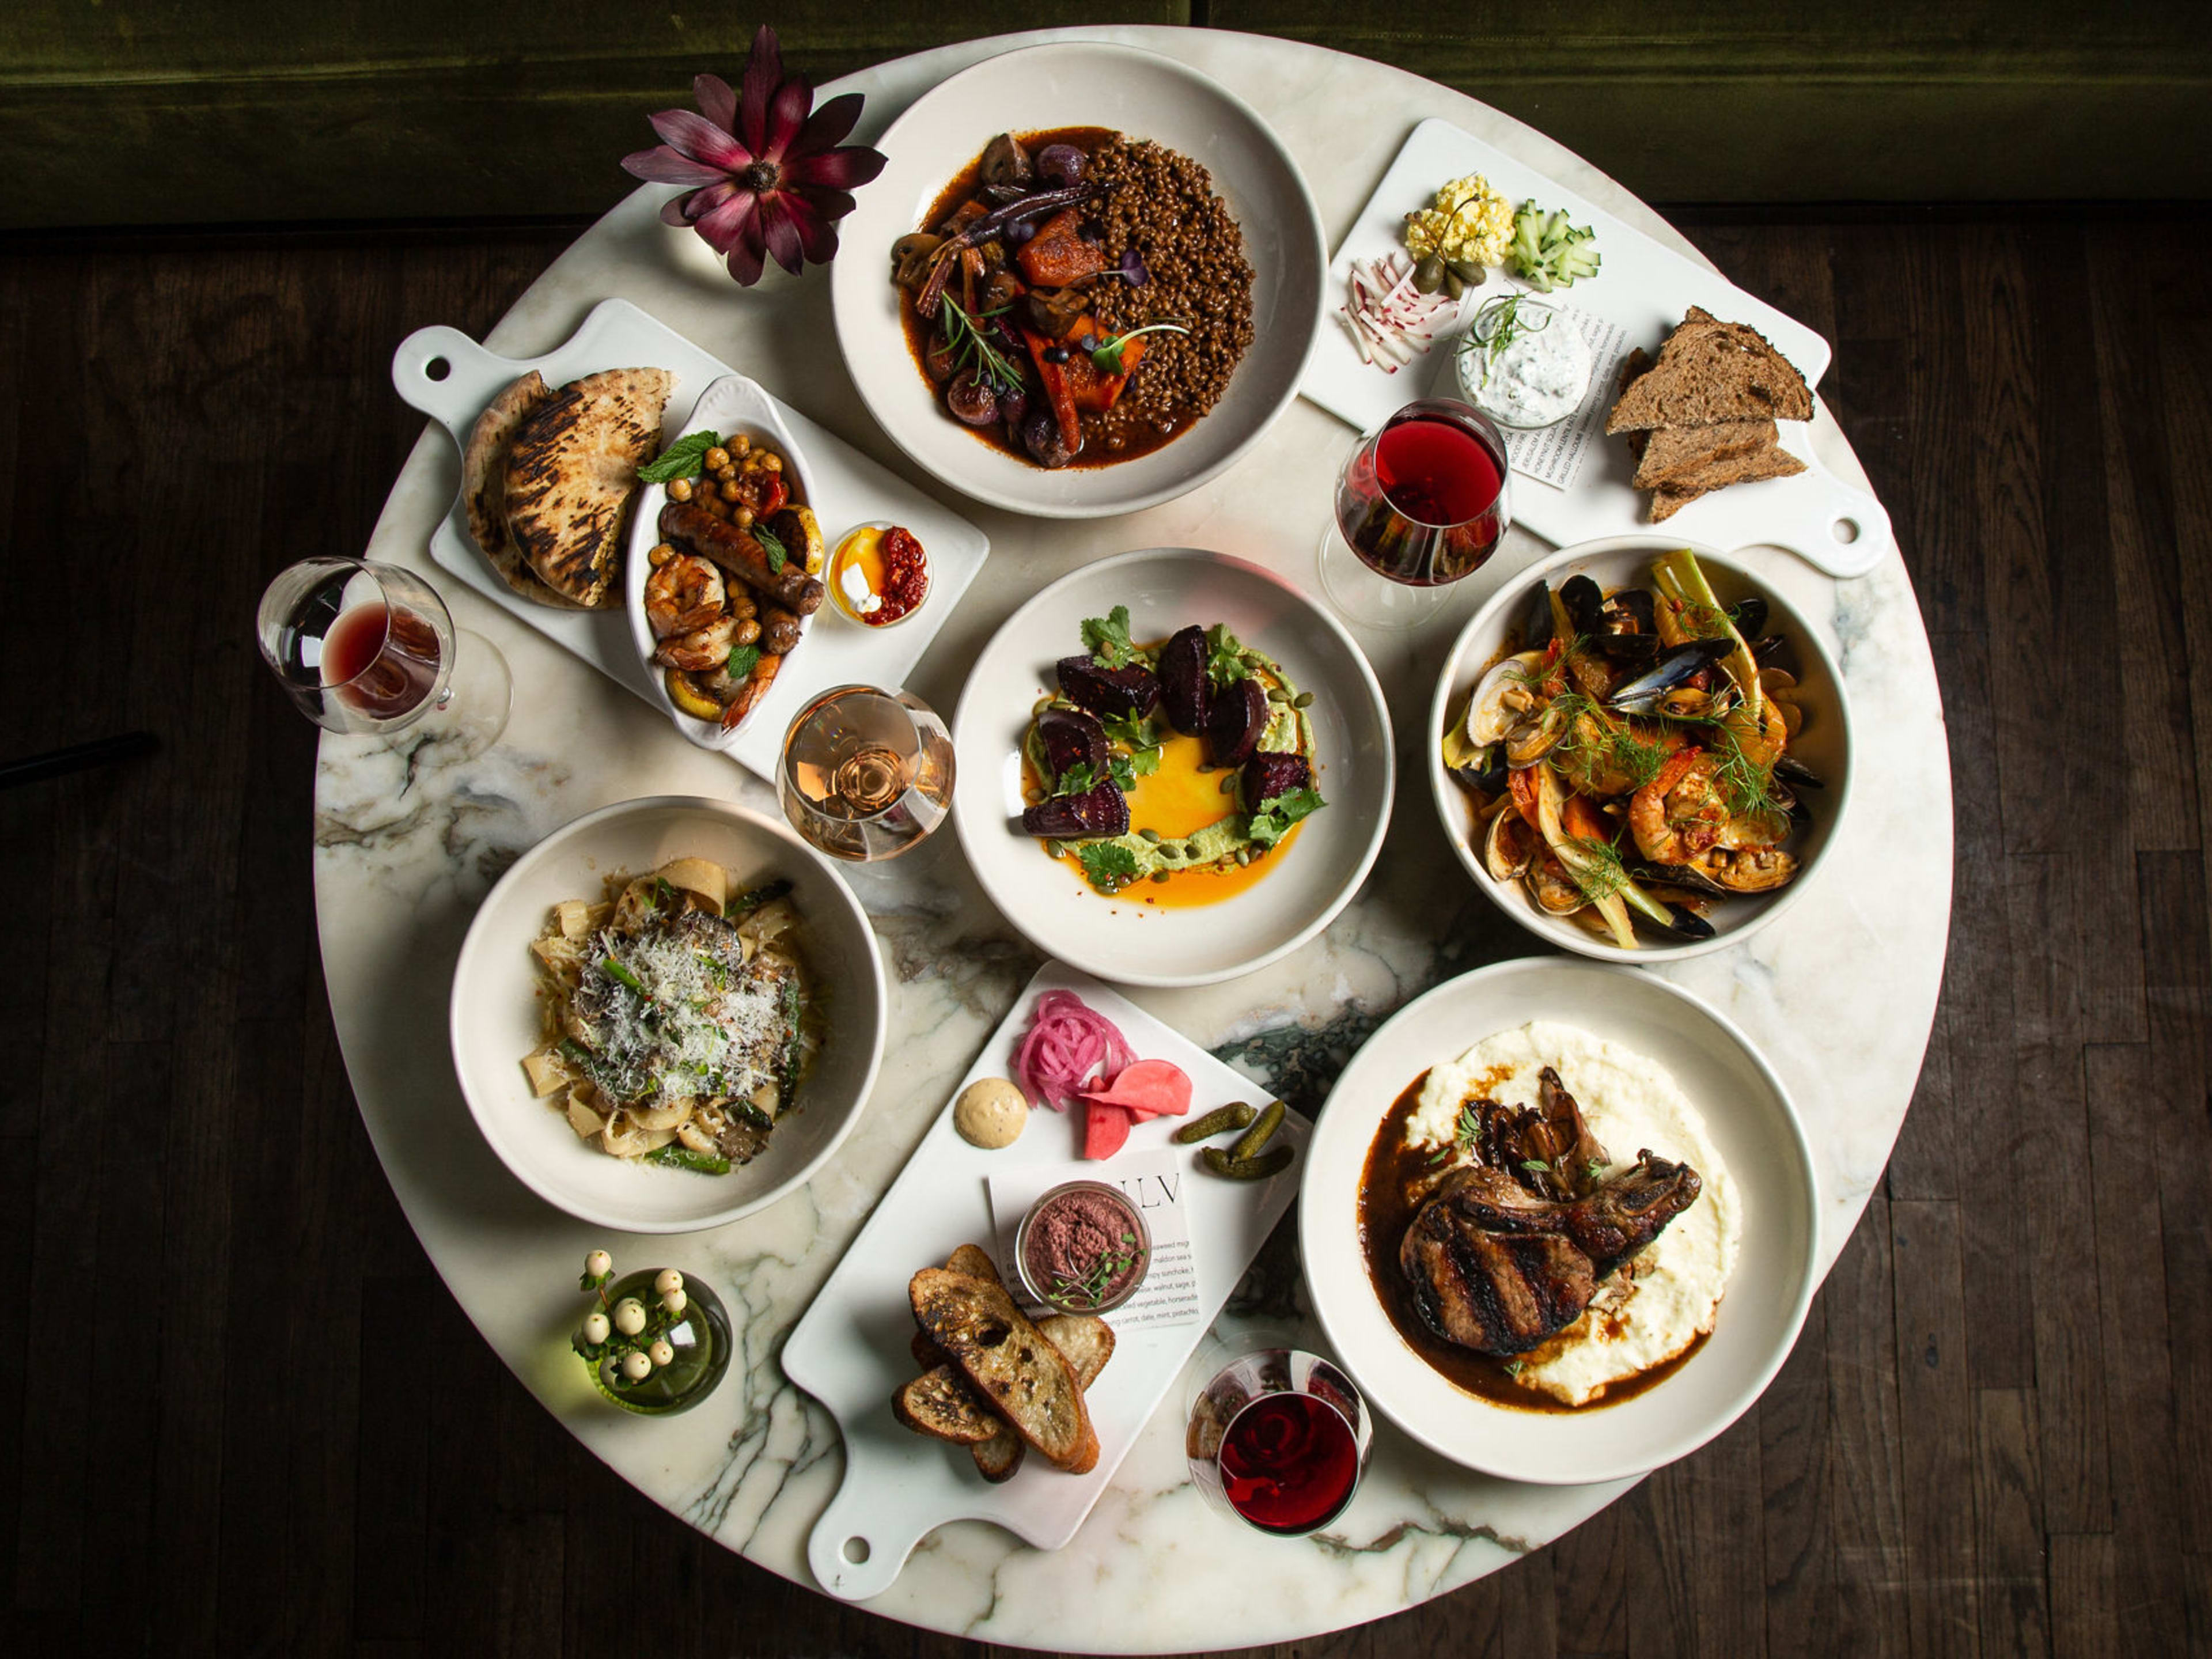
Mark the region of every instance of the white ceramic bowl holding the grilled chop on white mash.
<instances>
[{"instance_id":1,"label":"white ceramic bowl holding the grilled chop on white mash","mask_svg":"<svg viewBox=\"0 0 2212 1659\"><path fill-rule=\"evenodd\" d=\"M1429 1066L1528 1020L1582 1026L1666 1066L1743 1194L1743 1250L1712 1336L1674 1376L1610 1407L1515 1411L1453 1387L1398 1336L1360 1254L1360 1170L1391 1104ZM1557 956L1478 969L1394 1013L1329 1093L1298 1188L1314 1312L1367 1402L1453 1462L1548 1486L1657 1469L1743 1416L1805 1323L1818 1239L1805 1133L1745 1035L1657 975Z\"/></svg>"}]
</instances>

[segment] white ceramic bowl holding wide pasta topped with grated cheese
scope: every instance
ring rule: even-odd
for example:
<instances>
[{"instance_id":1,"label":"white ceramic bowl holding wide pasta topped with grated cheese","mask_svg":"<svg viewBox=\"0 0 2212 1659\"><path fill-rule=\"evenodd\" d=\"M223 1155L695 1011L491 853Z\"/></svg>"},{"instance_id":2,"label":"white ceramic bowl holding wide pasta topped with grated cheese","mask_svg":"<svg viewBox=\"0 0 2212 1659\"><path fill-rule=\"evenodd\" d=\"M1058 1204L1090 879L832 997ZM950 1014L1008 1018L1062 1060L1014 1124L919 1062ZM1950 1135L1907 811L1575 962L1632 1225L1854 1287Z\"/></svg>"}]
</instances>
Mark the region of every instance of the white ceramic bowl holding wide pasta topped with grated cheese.
<instances>
[{"instance_id":1,"label":"white ceramic bowl holding wide pasta topped with grated cheese","mask_svg":"<svg viewBox=\"0 0 2212 1659\"><path fill-rule=\"evenodd\" d=\"M801 1108L768 1150L721 1177L608 1157L531 1095L522 1055L542 1040L531 940L564 898L599 898L608 874L712 858L739 885L792 883L799 949L832 1009ZM531 847L484 898L453 967L453 1071L478 1128L546 1203L626 1232L695 1232L752 1214L801 1186L860 1119L883 1060L887 993L876 931L843 876L781 821L699 796L646 796L591 812Z\"/></svg>"}]
</instances>

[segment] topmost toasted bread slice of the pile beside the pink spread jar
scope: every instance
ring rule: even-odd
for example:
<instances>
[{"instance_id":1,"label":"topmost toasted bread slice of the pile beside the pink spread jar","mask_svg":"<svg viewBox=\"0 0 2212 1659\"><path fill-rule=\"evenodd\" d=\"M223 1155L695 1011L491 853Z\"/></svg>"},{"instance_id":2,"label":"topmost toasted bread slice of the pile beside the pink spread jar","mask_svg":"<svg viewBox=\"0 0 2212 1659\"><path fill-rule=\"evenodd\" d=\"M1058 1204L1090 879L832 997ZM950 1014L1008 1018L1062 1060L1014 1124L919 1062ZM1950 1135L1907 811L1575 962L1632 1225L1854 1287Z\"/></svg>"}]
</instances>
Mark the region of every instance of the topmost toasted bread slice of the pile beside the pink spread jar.
<instances>
[{"instance_id":1,"label":"topmost toasted bread slice of the pile beside the pink spread jar","mask_svg":"<svg viewBox=\"0 0 2212 1659\"><path fill-rule=\"evenodd\" d=\"M1029 1323L1004 1285L922 1267L907 1283L914 1318L975 1391L1057 1469L1097 1467L1099 1438L1068 1358Z\"/></svg>"}]
</instances>

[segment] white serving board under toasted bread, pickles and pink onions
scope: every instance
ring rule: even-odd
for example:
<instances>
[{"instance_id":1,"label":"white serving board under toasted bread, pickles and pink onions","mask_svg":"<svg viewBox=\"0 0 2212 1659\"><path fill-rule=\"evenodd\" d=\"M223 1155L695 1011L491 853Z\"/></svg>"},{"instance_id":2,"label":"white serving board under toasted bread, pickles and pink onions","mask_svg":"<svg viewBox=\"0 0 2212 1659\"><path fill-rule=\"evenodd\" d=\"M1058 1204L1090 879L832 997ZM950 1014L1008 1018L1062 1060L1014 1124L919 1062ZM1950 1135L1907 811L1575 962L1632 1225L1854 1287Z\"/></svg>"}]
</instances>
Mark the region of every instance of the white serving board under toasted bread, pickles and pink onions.
<instances>
[{"instance_id":1,"label":"white serving board under toasted bread, pickles and pink onions","mask_svg":"<svg viewBox=\"0 0 2212 1659\"><path fill-rule=\"evenodd\" d=\"M1046 962L1029 982L960 1088L978 1077L1009 1075L1013 1048L1029 1031L1031 1009L1044 991L1075 991L1121 1026L1139 1060L1172 1060L1190 1073L1190 1117L1232 1099L1254 1106L1267 1099L1188 1037L1060 962ZM1079 1157L1082 1121L1075 1113L1031 1113L1022 1139L984 1152L953 1130L951 1102L960 1088L947 1097L905 1172L883 1194L783 1345L785 1376L827 1407L845 1438L845 1484L814 1524L807 1566L825 1590L847 1601L887 1590L914 1546L947 1522L998 1522L1037 1548L1060 1548L1075 1537L1267 1232L1290 1208L1305 1166L1307 1124L1296 1113L1283 1115L1279 1135L1298 1148L1298 1157L1274 1179L1250 1183L1208 1172L1197 1146L1172 1144L1170 1137L1190 1117L1155 1117L1130 1130L1130 1150L1175 1146L1181 1157L1190 1183L1186 1208L1203 1318L1164 1329L1115 1332L1113 1360L1086 1396L1099 1436L1099 1460L1088 1475L1066 1475L1031 1453L1013 1480L993 1486L975 1473L967 1447L911 1433L891 1416L891 1394L916 1374L907 1349L914 1336L907 1281L920 1267L942 1265L962 1243L991 1250L984 1177L991 1170ZM1110 1179L1115 1161L1091 1168ZM1106 1314L1106 1323L1113 1325L1113 1314ZM1168 1409L1179 1411L1181 1402L1170 1400ZM865 1551L854 1540L865 1540ZM854 1562L852 1555L865 1559Z\"/></svg>"}]
</instances>

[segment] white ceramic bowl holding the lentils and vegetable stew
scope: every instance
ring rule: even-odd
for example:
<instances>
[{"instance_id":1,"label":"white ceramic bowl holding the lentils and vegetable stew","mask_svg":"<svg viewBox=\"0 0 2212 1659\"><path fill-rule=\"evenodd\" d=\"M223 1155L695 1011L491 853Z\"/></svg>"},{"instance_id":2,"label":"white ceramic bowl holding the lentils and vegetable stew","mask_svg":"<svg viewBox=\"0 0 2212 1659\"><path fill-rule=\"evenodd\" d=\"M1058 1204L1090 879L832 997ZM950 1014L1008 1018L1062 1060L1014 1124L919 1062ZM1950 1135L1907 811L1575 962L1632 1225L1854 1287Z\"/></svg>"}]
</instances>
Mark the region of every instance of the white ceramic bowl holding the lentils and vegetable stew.
<instances>
[{"instance_id":1,"label":"white ceramic bowl holding the lentils and vegetable stew","mask_svg":"<svg viewBox=\"0 0 2212 1659\"><path fill-rule=\"evenodd\" d=\"M1228 394L1164 449L1110 467L1046 471L953 420L907 349L891 243L920 226L960 168L1000 133L1108 126L1181 150L1212 173L1252 263L1252 345ZM1234 93L1172 58L1086 42L987 58L916 100L876 139L889 164L838 230L836 336L860 396L916 465L980 502L1040 518L1104 518L1172 500L1225 471L1298 394L1329 265L1305 179Z\"/></svg>"}]
</instances>

